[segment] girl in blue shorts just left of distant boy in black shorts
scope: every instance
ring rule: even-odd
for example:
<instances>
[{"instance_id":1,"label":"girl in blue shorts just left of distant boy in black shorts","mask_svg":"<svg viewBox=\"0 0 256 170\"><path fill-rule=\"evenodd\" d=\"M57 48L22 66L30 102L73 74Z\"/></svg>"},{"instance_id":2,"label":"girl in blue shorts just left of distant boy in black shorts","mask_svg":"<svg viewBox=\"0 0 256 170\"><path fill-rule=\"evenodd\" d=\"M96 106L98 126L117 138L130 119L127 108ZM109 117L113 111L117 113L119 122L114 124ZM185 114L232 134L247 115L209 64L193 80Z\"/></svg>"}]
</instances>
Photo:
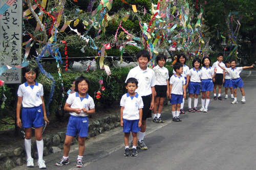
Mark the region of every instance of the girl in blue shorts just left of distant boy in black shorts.
<instances>
[{"instance_id":1,"label":"girl in blue shorts just left of distant boy in black shorts","mask_svg":"<svg viewBox=\"0 0 256 170\"><path fill-rule=\"evenodd\" d=\"M202 107L199 111L207 112L208 106L210 103L210 91L214 90L214 83L212 79L216 75L217 68L210 67L211 61L209 57L203 58L202 61L202 82L201 82L201 91L202 91ZM205 103L205 96L206 96L206 103Z\"/></svg>"}]
</instances>

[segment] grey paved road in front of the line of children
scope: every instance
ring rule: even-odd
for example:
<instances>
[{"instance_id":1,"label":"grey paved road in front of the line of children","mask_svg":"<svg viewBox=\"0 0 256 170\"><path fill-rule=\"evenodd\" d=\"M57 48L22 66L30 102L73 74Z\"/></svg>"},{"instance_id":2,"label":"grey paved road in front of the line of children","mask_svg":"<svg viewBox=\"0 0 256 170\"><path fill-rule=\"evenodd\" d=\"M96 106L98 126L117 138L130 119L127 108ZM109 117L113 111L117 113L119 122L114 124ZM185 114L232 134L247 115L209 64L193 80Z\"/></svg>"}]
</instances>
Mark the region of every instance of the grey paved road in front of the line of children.
<instances>
[{"instance_id":1,"label":"grey paved road in front of the line of children","mask_svg":"<svg viewBox=\"0 0 256 170\"><path fill-rule=\"evenodd\" d=\"M255 169L256 72L245 71L242 79L245 104L240 103L238 90L238 104L232 105L230 99L211 100L207 113L186 112L178 123L171 120L170 106L165 107L164 124L147 121L144 140L148 150L138 149L137 157L124 157L122 128L116 128L86 143L84 167L80 169ZM222 92L224 94L224 90ZM62 154L44 157L47 169L77 169L77 145L72 146L71 164L57 167L55 163ZM15 169L34 168L19 166Z\"/></svg>"}]
</instances>

